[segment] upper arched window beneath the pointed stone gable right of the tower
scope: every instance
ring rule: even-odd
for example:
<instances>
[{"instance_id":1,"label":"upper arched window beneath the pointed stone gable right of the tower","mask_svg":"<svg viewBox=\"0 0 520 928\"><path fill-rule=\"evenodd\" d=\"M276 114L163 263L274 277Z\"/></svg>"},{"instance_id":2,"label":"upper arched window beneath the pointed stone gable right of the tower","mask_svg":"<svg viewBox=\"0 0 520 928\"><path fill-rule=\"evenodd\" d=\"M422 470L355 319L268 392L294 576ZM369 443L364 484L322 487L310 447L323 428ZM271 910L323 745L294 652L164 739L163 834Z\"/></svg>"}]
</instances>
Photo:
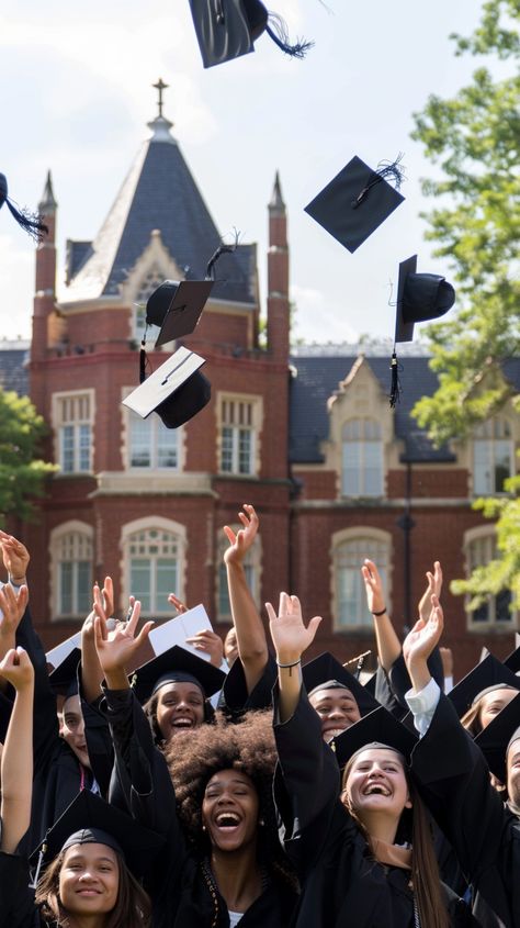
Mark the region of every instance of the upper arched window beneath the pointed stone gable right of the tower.
<instances>
[{"instance_id":1,"label":"upper arched window beneath the pointed stone gable right of the tower","mask_svg":"<svg viewBox=\"0 0 520 928\"><path fill-rule=\"evenodd\" d=\"M383 441L373 418L351 418L342 429L343 496L383 495Z\"/></svg>"}]
</instances>

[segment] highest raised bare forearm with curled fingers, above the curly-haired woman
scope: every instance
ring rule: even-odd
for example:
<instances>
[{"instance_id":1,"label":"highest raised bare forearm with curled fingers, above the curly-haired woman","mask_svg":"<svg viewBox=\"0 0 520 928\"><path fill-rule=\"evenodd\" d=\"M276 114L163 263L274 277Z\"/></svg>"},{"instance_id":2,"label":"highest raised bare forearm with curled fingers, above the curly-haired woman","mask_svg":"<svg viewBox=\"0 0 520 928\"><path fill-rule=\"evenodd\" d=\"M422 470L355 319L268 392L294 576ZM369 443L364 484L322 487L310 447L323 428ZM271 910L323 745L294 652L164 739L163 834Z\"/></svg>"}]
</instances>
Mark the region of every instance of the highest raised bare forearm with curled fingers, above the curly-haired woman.
<instances>
[{"instance_id":1,"label":"highest raised bare forearm with curled fingers, above the curly-haired woman","mask_svg":"<svg viewBox=\"0 0 520 928\"><path fill-rule=\"evenodd\" d=\"M244 561L258 534L259 519L255 507L245 504L238 517L242 524L236 534L224 526L229 547L224 555L233 623L237 630L238 656L244 667L248 693L259 682L268 662L265 630L249 589Z\"/></svg>"}]
</instances>

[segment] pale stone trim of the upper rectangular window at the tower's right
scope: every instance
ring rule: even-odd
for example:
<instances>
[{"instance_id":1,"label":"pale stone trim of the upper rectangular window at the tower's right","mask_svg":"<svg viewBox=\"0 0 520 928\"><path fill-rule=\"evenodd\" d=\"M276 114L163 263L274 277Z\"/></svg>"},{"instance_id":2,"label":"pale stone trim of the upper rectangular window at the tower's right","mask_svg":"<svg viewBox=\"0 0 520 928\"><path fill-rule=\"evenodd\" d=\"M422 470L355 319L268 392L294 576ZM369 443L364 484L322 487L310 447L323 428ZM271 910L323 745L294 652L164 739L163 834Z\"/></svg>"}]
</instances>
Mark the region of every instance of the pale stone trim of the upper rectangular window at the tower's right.
<instances>
[{"instance_id":1,"label":"pale stone trim of the upper rectangular window at the tower's right","mask_svg":"<svg viewBox=\"0 0 520 928\"><path fill-rule=\"evenodd\" d=\"M231 405L238 410L240 404L244 407L249 407L250 421L244 423L244 431L251 434L251 449L250 460L251 468L248 473L239 470L239 451L237 439L234 438L233 465L231 470L223 469L223 449L224 449L224 429L240 427L240 423L229 422L229 410ZM261 470L261 432L263 425L263 396L257 393L228 393L218 391L216 396L216 416L217 416L217 441L216 441L216 469L217 473L230 477L259 477Z\"/></svg>"}]
</instances>

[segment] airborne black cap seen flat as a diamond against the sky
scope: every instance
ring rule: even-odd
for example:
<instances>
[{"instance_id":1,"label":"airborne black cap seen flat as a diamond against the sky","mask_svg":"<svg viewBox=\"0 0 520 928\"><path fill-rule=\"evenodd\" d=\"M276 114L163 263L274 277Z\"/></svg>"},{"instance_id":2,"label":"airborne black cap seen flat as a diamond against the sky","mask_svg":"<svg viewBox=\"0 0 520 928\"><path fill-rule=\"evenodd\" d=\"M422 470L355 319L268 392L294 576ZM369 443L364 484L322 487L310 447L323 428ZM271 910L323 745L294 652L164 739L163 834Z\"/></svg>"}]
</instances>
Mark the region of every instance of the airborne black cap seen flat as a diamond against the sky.
<instances>
[{"instance_id":1,"label":"airborne black cap seen flat as a diamond against the sky","mask_svg":"<svg viewBox=\"0 0 520 928\"><path fill-rule=\"evenodd\" d=\"M353 255L405 199L398 192L403 180L399 160L400 156L374 170L353 157L305 212ZM393 178L397 189L386 178Z\"/></svg>"}]
</instances>

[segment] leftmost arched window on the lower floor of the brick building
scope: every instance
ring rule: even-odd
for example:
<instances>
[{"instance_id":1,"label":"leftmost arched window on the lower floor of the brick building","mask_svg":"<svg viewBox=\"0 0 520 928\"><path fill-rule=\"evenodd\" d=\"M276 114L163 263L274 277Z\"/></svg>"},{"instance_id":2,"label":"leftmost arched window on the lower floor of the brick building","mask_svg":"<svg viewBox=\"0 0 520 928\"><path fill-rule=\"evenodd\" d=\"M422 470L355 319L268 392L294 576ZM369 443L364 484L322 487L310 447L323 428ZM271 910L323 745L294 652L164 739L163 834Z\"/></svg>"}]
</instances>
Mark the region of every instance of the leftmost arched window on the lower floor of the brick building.
<instances>
[{"instance_id":1,"label":"leftmost arched window on the lower floor of the brick building","mask_svg":"<svg viewBox=\"0 0 520 928\"><path fill-rule=\"evenodd\" d=\"M92 606L92 529L82 523L58 526L50 535L53 613L56 618L87 617Z\"/></svg>"}]
</instances>

